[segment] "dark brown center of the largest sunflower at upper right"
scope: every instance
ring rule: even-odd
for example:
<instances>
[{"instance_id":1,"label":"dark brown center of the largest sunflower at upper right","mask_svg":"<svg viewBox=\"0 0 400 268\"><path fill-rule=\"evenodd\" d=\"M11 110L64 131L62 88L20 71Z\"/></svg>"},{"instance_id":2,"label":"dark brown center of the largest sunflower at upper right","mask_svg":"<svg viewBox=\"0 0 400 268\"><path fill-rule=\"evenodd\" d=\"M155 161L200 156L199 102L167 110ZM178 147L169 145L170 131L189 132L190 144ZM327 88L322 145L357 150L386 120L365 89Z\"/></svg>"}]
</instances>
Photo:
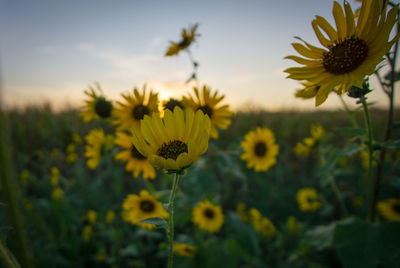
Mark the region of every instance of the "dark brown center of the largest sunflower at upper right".
<instances>
[{"instance_id":1,"label":"dark brown center of the largest sunflower at upper right","mask_svg":"<svg viewBox=\"0 0 400 268\"><path fill-rule=\"evenodd\" d=\"M367 43L351 36L329 47L323 55L323 65L332 74L345 74L360 66L367 55Z\"/></svg>"}]
</instances>

